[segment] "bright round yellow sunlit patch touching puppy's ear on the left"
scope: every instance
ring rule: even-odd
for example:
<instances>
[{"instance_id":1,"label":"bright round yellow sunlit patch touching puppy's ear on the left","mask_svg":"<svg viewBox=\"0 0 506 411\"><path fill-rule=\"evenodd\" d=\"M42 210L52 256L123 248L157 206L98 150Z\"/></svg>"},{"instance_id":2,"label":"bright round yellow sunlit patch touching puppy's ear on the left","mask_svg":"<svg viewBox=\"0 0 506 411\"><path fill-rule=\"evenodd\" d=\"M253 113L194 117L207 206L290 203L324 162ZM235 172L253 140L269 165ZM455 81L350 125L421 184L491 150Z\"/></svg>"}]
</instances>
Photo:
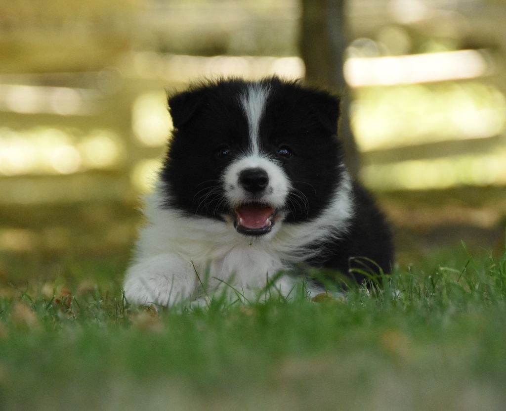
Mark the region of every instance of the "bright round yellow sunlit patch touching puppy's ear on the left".
<instances>
[{"instance_id":1,"label":"bright round yellow sunlit patch touching puppy's ear on the left","mask_svg":"<svg viewBox=\"0 0 506 411\"><path fill-rule=\"evenodd\" d=\"M136 98L132 107L132 128L141 143L150 147L164 145L172 127L164 93L145 93Z\"/></svg>"}]
</instances>

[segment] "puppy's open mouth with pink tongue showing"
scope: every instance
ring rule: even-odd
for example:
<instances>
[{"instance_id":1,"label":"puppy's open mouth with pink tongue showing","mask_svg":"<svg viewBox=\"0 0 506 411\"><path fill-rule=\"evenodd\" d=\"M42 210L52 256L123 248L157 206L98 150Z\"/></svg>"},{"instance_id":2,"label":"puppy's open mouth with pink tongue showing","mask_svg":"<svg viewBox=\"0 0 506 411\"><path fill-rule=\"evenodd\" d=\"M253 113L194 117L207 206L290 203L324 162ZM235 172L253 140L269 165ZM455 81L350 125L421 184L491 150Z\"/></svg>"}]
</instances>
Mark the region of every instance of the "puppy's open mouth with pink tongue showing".
<instances>
[{"instance_id":1,"label":"puppy's open mouth with pink tongue showing","mask_svg":"<svg viewBox=\"0 0 506 411\"><path fill-rule=\"evenodd\" d=\"M244 235L264 235L272 230L276 209L267 204L248 203L233 211L234 227Z\"/></svg>"}]
</instances>

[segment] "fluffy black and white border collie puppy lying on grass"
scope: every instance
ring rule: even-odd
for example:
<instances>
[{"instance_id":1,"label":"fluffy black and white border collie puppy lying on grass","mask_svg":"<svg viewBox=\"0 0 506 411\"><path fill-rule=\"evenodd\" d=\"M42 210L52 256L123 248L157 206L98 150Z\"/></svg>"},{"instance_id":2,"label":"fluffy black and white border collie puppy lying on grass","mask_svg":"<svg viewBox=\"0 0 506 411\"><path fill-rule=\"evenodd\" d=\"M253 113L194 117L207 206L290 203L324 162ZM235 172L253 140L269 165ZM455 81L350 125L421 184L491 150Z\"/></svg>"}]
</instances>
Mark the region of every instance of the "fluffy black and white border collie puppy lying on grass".
<instances>
[{"instance_id":1,"label":"fluffy black and white border collie puppy lying on grass","mask_svg":"<svg viewBox=\"0 0 506 411\"><path fill-rule=\"evenodd\" d=\"M337 98L273 77L201 84L168 104L174 131L126 273L130 303L196 300L203 282L288 296L302 279L315 295L338 273L364 280L353 270L364 262L390 270L389 227L343 162Z\"/></svg>"}]
</instances>

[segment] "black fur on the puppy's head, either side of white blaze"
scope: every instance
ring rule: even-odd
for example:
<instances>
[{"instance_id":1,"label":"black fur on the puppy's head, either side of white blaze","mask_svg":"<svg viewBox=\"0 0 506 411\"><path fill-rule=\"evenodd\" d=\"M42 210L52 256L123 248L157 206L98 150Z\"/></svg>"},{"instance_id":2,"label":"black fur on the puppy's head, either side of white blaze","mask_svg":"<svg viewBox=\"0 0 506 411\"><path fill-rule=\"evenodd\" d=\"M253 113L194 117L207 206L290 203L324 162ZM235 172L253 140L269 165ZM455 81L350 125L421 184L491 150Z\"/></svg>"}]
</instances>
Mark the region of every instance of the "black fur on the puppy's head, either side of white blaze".
<instances>
[{"instance_id":1,"label":"black fur on the puppy's head, either side of white blaze","mask_svg":"<svg viewBox=\"0 0 506 411\"><path fill-rule=\"evenodd\" d=\"M254 85L267 90L260 154L279 166L291 185L286 221L317 217L329 203L343 173L336 138L339 99L272 77L259 82L222 79L168 98L174 131L161 171L167 207L217 219L229 212L222 177L250 147L241 96Z\"/></svg>"}]
</instances>

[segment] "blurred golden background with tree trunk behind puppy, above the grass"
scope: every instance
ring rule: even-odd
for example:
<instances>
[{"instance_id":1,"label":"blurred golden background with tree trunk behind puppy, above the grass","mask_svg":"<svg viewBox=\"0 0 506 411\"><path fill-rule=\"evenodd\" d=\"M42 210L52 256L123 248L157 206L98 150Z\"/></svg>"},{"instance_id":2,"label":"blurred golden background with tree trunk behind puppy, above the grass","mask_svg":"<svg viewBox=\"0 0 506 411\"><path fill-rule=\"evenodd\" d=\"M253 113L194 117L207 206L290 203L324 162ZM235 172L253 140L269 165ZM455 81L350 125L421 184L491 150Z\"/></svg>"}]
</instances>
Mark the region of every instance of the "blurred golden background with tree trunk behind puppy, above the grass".
<instances>
[{"instance_id":1,"label":"blurred golden background with tree trunk behind puppy, above the grass","mask_svg":"<svg viewBox=\"0 0 506 411\"><path fill-rule=\"evenodd\" d=\"M504 246L502 0L0 2L0 280L117 278L165 93L278 74L343 96L349 165L401 267ZM463 253L463 254L462 254Z\"/></svg>"}]
</instances>

